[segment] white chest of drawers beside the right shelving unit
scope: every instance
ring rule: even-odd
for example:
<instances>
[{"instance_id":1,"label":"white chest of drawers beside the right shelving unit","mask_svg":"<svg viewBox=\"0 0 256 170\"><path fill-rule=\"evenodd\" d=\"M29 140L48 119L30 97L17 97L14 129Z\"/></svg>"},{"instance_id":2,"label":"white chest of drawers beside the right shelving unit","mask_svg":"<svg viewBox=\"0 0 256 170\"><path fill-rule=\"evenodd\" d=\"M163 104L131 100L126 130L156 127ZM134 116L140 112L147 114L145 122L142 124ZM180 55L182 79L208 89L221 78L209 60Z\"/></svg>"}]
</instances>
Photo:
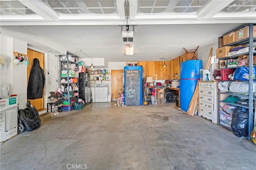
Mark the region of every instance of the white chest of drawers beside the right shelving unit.
<instances>
[{"instance_id":1,"label":"white chest of drawers beside the right shelving unit","mask_svg":"<svg viewBox=\"0 0 256 170\"><path fill-rule=\"evenodd\" d=\"M199 112L198 115L218 122L218 92L217 82L199 82Z\"/></svg>"}]
</instances>

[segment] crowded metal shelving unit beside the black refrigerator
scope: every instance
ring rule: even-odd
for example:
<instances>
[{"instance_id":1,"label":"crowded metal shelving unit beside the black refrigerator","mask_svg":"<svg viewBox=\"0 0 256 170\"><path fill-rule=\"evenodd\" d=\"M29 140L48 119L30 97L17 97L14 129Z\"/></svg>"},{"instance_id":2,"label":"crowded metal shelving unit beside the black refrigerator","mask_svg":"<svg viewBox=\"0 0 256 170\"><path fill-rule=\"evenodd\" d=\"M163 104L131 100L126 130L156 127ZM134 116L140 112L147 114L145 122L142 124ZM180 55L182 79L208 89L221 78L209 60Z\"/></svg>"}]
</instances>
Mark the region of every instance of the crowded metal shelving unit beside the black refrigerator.
<instances>
[{"instance_id":1,"label":"crowded metal shelving unit beside the black refrigerator","mask_svg":"<svg viewBox=\"0 0 256 170\"><path fill-rule=\"evenodd\" d=\"M64 99L64 102L68 102L68 105L62 105L62 111L71 111L71 102L72 102L72 99L75 99L77 98L77 96L70 96L71 92L78 92L78 90L70 90L70 87L71 87L71 84L77 84L78 86L78 81L76 83L71 83L69 82L70 78L78 78L78 75L76 75L76 73L74 74L74 76L71 76L69 74L69 68L70 68L70 64L75 64L76 66L78 66L78 63L76 63L76 61L78 60L78 57L76 57L75 55L72 55L72 57L74 57L75 59L75 62L73 61L70 61L69 60L69 57L70 57L70 54L66 54L66 55L58 55L59 57L59 61L60 61L60 79L64 78L66 80L66 82L61 82L60 84L61 85L65 85L66 86L66 91L62 90L62 96L63 96L63 99ZM66 68L64 68L64 65L66 64ZM67 71L67 76L62 76L62 70L66 70ZM67 97L65 97L65 96ZM68 109L63 109L63 107L65 106L68 106Z\"/></svg>"}]
</instances>

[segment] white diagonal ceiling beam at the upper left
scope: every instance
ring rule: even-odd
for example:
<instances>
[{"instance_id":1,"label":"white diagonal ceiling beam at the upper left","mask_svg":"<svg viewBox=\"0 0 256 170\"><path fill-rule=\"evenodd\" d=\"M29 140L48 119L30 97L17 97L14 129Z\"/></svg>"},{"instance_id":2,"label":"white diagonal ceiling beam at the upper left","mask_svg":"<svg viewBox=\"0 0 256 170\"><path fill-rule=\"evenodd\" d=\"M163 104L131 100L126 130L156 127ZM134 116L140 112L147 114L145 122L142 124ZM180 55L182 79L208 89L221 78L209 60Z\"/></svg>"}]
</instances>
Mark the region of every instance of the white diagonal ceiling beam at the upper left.
<instances>
[{"instance_id":1,"label":"white diagonal ceiling beam at the upper left","mask_svg":"<svg viewBox=\"0 0 256 170\"><path fill-rule=\"evenodd\" d=\"M18 0L46 21L59 21L59 15L41 0Z\"/></svg>"}]
</instances>

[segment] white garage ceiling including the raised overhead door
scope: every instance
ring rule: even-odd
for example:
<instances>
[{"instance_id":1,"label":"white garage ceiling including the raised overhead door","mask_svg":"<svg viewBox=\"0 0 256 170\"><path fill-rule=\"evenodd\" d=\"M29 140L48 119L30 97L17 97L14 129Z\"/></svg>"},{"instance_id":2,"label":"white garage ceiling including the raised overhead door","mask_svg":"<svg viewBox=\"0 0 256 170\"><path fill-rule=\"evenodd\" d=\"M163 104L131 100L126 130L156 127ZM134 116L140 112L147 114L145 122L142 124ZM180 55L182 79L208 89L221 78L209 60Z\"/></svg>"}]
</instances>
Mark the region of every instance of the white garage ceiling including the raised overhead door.
<instances>
[{"instance_id":1,"label":"white garage ceiling including the raised overhead door","mask_svg":"<svg viewBox=\"0 0 256 170\"><path fill-rule=\"evenodd\" d=\"M0 14L1 33L48 53L160 61L256 22L256 0L1 0ZM132 42L122 40L126 25ZM124 55L126 44L135 46L135 55Z\"/></svg>"}]
</instances>

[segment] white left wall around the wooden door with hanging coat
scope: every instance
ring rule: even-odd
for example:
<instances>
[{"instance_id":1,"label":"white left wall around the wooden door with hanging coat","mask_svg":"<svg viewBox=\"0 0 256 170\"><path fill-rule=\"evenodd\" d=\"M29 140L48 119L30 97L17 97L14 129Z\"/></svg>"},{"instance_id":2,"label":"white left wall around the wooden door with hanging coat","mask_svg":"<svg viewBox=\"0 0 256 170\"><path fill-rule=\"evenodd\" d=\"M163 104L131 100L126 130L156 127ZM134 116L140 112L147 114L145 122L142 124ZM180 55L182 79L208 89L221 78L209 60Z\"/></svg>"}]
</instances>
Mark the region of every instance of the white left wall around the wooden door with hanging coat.
<instances>
[{"instance_id":1,"label":"white left wall around the wooden door with hanging coat","mask_svg":"<svg viewBox=\"0 0 256 170\"><path fill-rule=\"evenodd\" d=\"M4 84L9 86L10 94L18 95L18 104L20 109L26 108L27 101L27 66L24 62L18 66L13 64L13 59L15 58L13 52L27 54L28 44L24 41L20 41L8 35L0 34L0 54L6 58L6 64L3 69L0 69L0 86ZM29 47L30 48L30 47ZM30 48L40 53L43 51ZM47 54L45 57L45 76L46 76L46 86L45 86L45 108L46 101L49 92L57 90L56 78L59 78L59 62L58 57L55 55ZM31 64L31 63L30 63ZM49 71L49 74L47 74ZM59 80L60 81L60 80Z\"/></svg>"}]
</instances>

